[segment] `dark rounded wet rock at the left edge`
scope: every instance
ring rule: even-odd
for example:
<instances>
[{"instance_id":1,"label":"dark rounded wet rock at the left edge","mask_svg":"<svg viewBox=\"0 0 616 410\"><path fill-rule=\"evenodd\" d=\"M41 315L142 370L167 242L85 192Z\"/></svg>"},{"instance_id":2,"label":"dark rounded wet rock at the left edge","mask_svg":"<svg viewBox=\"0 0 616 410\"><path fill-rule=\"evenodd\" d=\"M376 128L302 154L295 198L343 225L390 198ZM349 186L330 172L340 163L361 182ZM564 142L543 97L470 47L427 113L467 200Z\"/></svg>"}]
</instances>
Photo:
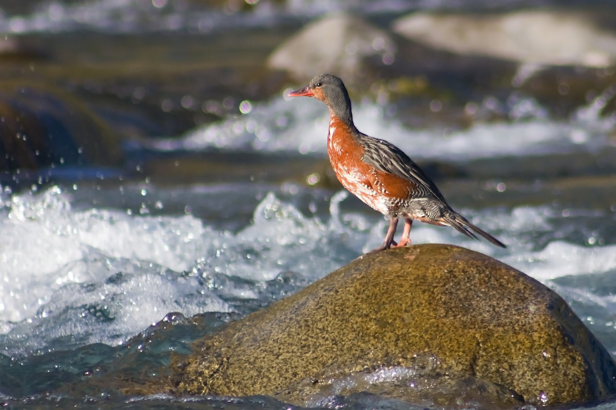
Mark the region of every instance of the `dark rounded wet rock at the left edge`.
<instances>
[{"instance_id":1,"label":"dark rounded wet rock at the left edge","mask_svg":"<svg viewBox=\"0 0 616 410\"><path fill-rule=\"evenodd\" d=\"M119 165L120 135L78 98L42 84L0 84L0 171Z\"/></svg>"}]
</instances>

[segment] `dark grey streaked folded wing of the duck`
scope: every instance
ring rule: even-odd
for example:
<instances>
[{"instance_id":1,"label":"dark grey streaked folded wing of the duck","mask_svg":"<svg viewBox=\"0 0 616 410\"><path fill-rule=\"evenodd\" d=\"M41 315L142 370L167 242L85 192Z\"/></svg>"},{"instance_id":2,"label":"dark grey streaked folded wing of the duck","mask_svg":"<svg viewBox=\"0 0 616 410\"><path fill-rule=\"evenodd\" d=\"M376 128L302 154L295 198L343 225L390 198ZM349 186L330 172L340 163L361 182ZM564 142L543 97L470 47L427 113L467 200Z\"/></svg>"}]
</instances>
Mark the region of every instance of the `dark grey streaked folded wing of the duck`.
<instances>
[{"instance_id":1,"label":"dark grey streaked folded wing of the duck","mask_svg":"<svg viewBox=\"0 0 616 410\"><path fill-rule=\"evenodd\" d=\"M432 196L445 202L443 195L432 180L407 154L400 151L394 144L365 134L361 134L360 137L359 141L363 147L363 162L372 165L379 171L392 173L415 183L419 191L418 195L413 195L415 197L425 196L429 198Z\"/></svg>"}]
</instances>

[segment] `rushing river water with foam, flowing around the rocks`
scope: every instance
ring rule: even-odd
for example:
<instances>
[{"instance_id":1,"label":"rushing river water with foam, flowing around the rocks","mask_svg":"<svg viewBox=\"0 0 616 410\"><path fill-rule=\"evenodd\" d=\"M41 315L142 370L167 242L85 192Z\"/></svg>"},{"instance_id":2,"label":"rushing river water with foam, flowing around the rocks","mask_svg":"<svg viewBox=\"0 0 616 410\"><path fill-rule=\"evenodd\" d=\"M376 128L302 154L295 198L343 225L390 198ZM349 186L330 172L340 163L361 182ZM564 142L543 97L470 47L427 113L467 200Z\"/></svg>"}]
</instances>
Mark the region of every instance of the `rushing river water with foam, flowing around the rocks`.
<instances>
[{"instance_id":1,"label":"rushing river water with foam, flowing around the rocks","mask_svg":"<svg viewBox=\"0 0 616 410\"><path fill-rule=\"evenodd\" d=\"M345 7L376 20L444 6L351 3ZM520 6L524 2L506 5ZM131 338L151 334L169 312L180 318L203 313L212 323L233 320L381 243L387 221L331 182L325 106L285 97L304 85L292 81L270 92L231 84L256 66L242 50L262 60L302 23L342 6L325 0L261 2L246 10L240 2L45 0L0 7L2 33L35 50L51 47L52 62L37 65L44 77L89 98L118 132L136 129L139 136L124 141L126 162L120 167L5 174L0 399L14 408L79 406L84 400L97 408L290 408L267 397L47 392L134 352ZM250 39L237 44L246 33L254 34L254 46ZM139 48L136 55L131 47ZM225 66L201 60L201 52L235 58L222 87L221 77L199 78L201 68L210 75ZM161 71L174 68L171 80L155 84L152 78L160 73L147 66L158 58ZM81 68L71 71L71 59ZM128 74L129 63L141 63L145 74ZM15 74L12 81L19 79ZM105 91L93 92L99 85ZM424 165L456 210L508 248L419 223L413 225L413 242L465 246L537 278L569 302L616 355L616 115L606 109L614 93L613 87L595 87L564 111L521 90L469 95L458 103L475 114L466 125L443 114L439 103L425 112L442 117L426 121L403 98L352 97L362 132L391 141ZM119 116L127 104L142 111ZM411 127L413 122L422 125ZM156 349L169 347L161 342ZM323 403L415 408L362 395ZM616 402L594 408L616 408Z\"/></svg>"}]
</instances>

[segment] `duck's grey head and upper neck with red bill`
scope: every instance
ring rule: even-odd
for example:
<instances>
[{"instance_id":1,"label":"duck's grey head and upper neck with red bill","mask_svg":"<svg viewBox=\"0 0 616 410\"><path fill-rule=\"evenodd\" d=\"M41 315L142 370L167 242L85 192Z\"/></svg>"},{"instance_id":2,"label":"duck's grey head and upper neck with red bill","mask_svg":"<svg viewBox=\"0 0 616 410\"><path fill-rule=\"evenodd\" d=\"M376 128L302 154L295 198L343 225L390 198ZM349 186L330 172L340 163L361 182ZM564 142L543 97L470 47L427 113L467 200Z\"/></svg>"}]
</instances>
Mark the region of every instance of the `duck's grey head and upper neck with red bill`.
<instances>
[{"instance_id":1,"label":"duck's grey head and upper neck with red bill","mask_svg":"<svg viewBox=\"0 0 616 410\"><path fill-rule=\"evenodd\" d=\"M347 125L353 125L351 99L341 79L331 74L319 74L303 89L289 93L290 97L314 97L330 108L330 113Z\"/></svg>"}]
</instances>

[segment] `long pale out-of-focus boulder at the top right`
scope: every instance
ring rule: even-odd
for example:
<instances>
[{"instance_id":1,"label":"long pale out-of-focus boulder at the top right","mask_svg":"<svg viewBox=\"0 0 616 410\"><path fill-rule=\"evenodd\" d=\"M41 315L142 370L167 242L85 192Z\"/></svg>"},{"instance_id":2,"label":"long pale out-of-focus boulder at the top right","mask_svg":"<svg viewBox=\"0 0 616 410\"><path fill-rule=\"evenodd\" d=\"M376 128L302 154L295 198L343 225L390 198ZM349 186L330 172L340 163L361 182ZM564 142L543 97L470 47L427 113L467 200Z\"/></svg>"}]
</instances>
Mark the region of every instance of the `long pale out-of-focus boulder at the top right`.
<instances>
[{"instance_id":1,"label":"long pale out-of-focus boulder at the top right","mask_svg":"<svg viewBox=\"0 0 616 410\"><path fill-rule=\"evenodd\" d=\"M616 33L580 12L414 13L393 30L413 41L463 55L538 65L603 67L616 63Z\"/></svg>"}]
</instances>

